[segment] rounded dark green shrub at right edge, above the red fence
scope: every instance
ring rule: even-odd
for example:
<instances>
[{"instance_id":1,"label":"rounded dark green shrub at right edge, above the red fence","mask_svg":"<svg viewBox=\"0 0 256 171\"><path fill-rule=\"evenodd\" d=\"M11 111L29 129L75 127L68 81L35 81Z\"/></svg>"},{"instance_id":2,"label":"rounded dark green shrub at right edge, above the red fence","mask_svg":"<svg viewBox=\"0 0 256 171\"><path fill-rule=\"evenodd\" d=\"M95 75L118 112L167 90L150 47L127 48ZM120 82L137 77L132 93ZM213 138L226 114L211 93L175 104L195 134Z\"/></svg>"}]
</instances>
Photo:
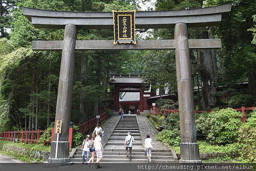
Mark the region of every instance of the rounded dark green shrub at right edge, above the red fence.
<instances>
[{"instance_id":1,"label":"rounded dark green shrub at right edge, above the red fence","mask_svg":"<svg viewBox=\"0 0 256 171\"><path fill-rule=\"evenodd\" d=\"M247 107L250 107L253 105L253 96L247 95L247 94L238 94L235 96L232 96L230 100L228 101L228 104L233 107L240 107L241 104L244 104Z\"/></svg>"}]
</instances>

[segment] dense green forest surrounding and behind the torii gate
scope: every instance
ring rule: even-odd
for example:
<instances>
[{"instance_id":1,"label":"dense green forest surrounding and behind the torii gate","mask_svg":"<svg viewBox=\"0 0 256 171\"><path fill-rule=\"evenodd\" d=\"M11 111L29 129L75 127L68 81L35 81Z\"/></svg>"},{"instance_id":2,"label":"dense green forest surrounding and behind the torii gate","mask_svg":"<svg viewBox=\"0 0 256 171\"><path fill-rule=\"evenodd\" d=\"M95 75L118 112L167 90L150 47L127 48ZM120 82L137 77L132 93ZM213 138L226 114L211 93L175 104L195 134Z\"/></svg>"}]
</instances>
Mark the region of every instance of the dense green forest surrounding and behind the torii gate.
<instances>
[{"instance_id":1,"label":"dense green forest surrounding and behind the torii gate","mask_svg":"<svg viewBox=\"0 0 256 171\"><path fill-rule=\"evenodd\" d=\"M143 0L147 3L150 0ZM36 29L22 6L61 11L141 10L142 0L1 0L0 131L44 129L54 120L61 52L32 51L33 40L63 40L64 30ZM219 26L189 28L189 38L221 38L220 50L191 50L192 76L202 82L200 109L256 102L256 0L156 0L148 10L192 9L233 3ZM173 29L137 29L137 39L173 39ZM79 30L78 40L113 40L112 30ZM77 51L71 121L107 110L111 73L143 74L152 88L177 93L174 51ZM248 89L236 92L238 81ZM217 87L224 87L218 92ZM225 97L220 99L219 97Z\"/></svg>"}]
</instances>

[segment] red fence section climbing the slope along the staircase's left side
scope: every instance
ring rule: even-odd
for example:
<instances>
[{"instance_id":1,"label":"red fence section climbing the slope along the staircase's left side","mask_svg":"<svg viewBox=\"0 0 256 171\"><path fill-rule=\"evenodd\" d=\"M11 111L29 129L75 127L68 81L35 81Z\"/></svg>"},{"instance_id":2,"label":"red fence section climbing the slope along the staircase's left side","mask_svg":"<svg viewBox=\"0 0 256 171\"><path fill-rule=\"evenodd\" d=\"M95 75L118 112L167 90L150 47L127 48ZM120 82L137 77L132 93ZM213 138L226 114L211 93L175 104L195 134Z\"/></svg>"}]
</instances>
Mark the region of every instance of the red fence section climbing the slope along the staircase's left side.
<instances>
[{"instance_id":1,"label":"red fence section climbing the slope along the staircase's left side","mask_svg":"<svg viewBox=\"0 0 256 171\"><path fill-rule=\"evenodd\" d=\"M108 112L102 112L99 114L99 123L102 122L102 120L106 119L108 117ZM86 134L88 131L92 130L95 128L98 120L96 116L93 118L86 120L84 123L79 125L79 131L82 134Z\"/></svg>"}]
</instances>

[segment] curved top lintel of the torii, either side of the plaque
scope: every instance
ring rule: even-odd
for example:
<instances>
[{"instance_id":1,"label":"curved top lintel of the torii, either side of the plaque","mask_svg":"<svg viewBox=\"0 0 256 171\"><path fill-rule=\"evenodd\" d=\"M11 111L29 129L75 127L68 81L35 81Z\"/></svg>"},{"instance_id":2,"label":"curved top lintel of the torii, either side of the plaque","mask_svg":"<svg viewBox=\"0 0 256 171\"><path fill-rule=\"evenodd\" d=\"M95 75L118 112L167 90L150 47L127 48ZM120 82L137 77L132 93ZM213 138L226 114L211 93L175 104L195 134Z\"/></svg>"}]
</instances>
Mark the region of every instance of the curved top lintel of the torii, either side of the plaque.
<instances>
[{"instance_id":1,"label":"curved top lintel of the torii, either side of the plaque","mask_svg":"<svg viewBox=\"0 0 256 171\"><path fill-rule=\"evenodd\" d=\"M188 27L214 26L227 17L232 4L198 9L170 11L137 11L136 29L170 28L176 23ZM113 29L112 12L64 12L22 7L25 15L37 28L64 29L74 24L78 29Z\"/></svg>"}]
</instances>

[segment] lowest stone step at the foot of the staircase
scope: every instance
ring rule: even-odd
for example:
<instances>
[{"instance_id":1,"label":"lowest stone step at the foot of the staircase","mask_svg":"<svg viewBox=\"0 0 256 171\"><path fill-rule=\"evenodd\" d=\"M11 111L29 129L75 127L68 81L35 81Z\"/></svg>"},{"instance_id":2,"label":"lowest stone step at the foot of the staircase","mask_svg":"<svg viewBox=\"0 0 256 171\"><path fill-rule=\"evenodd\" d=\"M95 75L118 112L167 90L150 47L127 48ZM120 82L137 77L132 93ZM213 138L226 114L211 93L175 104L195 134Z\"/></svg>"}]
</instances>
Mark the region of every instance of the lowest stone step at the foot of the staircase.
<instances>
[{"instance_id":1,"label":"lowest stone step at the foot of the staircase","mask_svg":"<svg viewBox=\"0 0 256 171\"><path fill-rule=\"evenodd\" d=\"M132 157L133 158L133 157ZM77 163L80 163L82 162L82 158L81 159L76 159L76 158L73 158L73 159L70 159L70 162L77 162ZM96 158L94 159L94 162L96 162ZM132 162L132 163L149 163L148 159L132 159L132 160L129 160L129 158L127 159L107 159L107 158L102 158L102 160L100 161L100 163L123 163L123 162ZM179 160L162 160L162 159L152 159L151 160L151 163L178 163Z\"/></svg>"}]
</instances>

